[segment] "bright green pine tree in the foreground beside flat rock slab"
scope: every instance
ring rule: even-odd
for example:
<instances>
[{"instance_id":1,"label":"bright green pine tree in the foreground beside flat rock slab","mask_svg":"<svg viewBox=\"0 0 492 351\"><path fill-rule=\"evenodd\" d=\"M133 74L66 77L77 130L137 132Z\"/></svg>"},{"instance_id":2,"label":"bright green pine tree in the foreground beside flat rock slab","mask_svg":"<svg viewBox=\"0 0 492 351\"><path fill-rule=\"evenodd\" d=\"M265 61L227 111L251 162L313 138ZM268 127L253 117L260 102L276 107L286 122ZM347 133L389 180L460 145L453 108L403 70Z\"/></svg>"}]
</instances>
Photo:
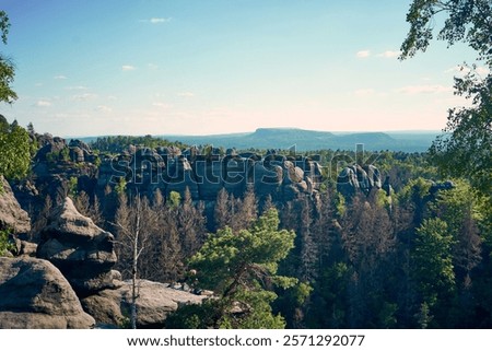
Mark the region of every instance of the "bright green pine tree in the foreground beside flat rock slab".
<instances>
[{"instance_id":1,"label":"bright green pine tree in the foreground beside flat rock slab","mask_svg":"<svg viewBox=\"0 0 492 351\"><path fill-rule=\"evenodd\" d=\"M284 327L284 319L272 314L270 304L277 294L270 288L286 289L296 283L296 279L277 276L279 261L294 246L295 234L278 227L278 212L270 209L249 230L233 233L226 226L208 237L189 266L197 270L199 285L213 290L219 297L189 308L192 313L186 315L188 326L200 321L198 327ZM183 315L178 312L174 320L180 326L186 324L183 320L189 309ZM203 315L210 316L204 324Z\"/></svg>"}]
</instances>

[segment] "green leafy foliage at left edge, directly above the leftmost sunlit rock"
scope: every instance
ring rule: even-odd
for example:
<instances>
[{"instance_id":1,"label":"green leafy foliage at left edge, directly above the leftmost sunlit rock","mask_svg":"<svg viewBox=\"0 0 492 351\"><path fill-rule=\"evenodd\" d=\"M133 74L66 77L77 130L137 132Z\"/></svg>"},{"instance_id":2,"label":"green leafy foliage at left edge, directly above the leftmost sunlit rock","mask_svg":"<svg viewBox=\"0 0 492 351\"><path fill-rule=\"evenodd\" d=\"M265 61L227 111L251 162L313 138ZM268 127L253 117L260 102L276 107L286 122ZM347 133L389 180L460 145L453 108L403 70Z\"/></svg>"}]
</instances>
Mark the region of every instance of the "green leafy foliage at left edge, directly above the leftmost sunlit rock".
<instances>
[{"instance_id":1,"label":"green leafy foliage at left edge, directly above the leftmost sunlit rock","mask_svg":"<svg viewBox=\"0 0 492 351\"><path fill-rule=\"evenodd\" d=\"M30 169L30 137L16 121L9 125L0 117L0 175L8 179L19 179Z\"/></svg>"}]
</instances>

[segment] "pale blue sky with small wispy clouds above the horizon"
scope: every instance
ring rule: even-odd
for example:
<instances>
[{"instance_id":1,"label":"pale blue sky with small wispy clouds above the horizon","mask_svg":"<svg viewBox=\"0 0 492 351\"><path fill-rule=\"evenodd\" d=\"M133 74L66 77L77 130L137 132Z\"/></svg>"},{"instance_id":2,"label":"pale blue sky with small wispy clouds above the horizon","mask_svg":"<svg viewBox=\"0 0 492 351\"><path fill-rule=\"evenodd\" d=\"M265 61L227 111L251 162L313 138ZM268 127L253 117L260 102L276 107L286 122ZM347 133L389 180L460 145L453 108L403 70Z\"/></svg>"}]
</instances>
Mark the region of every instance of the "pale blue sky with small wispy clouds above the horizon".
<instances>
[{"instance_id":1,"label":"pale blue sky with small wispy clouds above the horizon","mask_svg":"<svg viewBox=\"0 0 492 351\"><path fill-rule=\"evenodd\" d=\"M0 0L19 94L0 114L65 137L438 130L473 55L399 61L410 2Z\"/></svg>"}]
</instances>

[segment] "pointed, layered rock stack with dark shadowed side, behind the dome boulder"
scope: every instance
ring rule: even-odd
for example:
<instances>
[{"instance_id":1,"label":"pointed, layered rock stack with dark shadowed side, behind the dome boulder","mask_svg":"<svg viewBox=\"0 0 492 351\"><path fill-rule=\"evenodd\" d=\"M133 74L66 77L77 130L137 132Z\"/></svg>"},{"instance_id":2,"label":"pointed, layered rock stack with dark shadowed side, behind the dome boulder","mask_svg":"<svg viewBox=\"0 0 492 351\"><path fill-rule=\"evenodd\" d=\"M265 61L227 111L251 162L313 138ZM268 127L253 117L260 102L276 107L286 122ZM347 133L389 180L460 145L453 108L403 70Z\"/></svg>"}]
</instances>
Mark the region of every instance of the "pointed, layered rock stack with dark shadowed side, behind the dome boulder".
<instances>
[{"instance_id":1,"label":"pointed, layered rock stack with dark shadowed side, behind the dome boulder","mask_svg":"<svg viewBox=\"0 0 492 351\"><path fill-rule=\"evenodd\" d=\"M113 234L80 214L70 198L54 210L40 237L37 257L58 267L79 295L118 286Z\"/></svg>"}]
</instances>

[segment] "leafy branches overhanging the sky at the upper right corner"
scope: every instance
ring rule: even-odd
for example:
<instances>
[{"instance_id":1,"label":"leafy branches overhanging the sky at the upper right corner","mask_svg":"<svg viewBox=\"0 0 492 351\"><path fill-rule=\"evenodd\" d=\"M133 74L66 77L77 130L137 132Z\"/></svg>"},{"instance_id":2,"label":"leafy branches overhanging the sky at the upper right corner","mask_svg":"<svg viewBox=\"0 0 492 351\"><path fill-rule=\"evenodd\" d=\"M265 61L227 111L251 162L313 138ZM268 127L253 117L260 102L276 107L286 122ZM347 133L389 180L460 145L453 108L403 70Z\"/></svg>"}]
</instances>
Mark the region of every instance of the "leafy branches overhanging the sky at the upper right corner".
<instances>
[{"instance_id":1,"label":"leafy branches overhanging the sky at the upper right corner","mask_svg":"<svg viewBox=\"0 0 492 351\"><path fill-rule=\"evenodd\" d=\"M490 0L414 0L407 15L410 31L401 46L401 58L425 51L434 37L437 14L447 15L437 39L449 46L467 43L477 60L489 68L487 77L477 67L464 66L468 73L455 78L455 94L471 100L471 106L449 110L445 134L437 138L430 150L440 172L466 177L482 194L492 191L492 25Z\"/></svg>"}]
</instances>

